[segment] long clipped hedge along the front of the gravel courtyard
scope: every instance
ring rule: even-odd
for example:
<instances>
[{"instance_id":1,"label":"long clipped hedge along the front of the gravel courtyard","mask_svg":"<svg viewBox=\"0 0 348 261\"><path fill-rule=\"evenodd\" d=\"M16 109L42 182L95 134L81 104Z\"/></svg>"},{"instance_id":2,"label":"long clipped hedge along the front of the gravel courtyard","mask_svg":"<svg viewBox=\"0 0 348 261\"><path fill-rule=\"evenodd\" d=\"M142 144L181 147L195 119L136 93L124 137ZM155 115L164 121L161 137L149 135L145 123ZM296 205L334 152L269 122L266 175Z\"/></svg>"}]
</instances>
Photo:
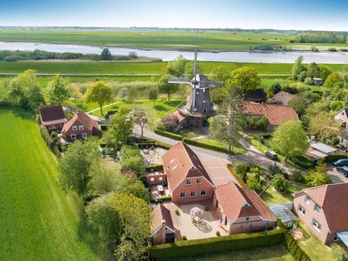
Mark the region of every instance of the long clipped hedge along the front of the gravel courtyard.
<instances>
[{"instance_id":1,"label":"long clipped hedge along the front of the gravel courtyard","mask_svg":"<svg viewBox=\"0 0 348 261\"><path fill-rule=\"evenodd\" d=\"M150 258L155 260L170 260L171 258L223 253L261 246L273 246L283 241L283 229L251 234L228 235L226 237L209 237L205 239L178 241L171 244L151 246Z\"/></svg>"}]
</instances>

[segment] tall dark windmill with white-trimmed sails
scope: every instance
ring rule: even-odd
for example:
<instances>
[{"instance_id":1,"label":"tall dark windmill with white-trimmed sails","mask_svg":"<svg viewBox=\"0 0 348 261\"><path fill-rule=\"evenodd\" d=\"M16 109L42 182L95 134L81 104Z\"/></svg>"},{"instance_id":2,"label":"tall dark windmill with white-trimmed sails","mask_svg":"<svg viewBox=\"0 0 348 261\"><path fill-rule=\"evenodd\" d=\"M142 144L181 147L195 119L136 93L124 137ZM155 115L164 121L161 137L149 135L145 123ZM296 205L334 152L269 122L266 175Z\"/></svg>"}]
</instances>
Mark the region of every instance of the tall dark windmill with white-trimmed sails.
<instances>
[{"instance_id":1,"label":"tall dark windmill with white-trimmed sails","mask_svg":"<svg viewBox=\"0 0 348 261\"><path fill-rule=\"evenodd\" d=\"M223 84L222 81L209 81L203 74L197 74L197 49L194 52L193 79L190 81L184 77L169 79L169 84L189 84L191 94L186 104L177 106L177 111L186 118L189 125L201 127L205 125L207 118L216 115L210 99L209 89L216 88Z\"/></svg>"}]
</instances>

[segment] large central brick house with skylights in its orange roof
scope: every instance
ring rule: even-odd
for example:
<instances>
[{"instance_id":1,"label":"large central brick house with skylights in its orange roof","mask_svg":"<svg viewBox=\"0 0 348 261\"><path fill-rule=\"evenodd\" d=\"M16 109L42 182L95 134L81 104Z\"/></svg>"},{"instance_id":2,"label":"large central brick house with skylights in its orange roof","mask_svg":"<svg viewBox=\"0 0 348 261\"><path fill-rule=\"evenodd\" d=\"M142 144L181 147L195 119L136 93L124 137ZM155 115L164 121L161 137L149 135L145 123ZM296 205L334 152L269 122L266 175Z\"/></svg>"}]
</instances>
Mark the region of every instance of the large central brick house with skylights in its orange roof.
<instances>
[{"instance_id":1,"label":"large central brick house with skylights in its orange roof","mask_svg":"<svg viewBox=\"0 0 348 261\"><path fill-rule=\"evenodd\" d=\"M164 174L173 202L212 198L214 185L198 156L179 142L162 157Z\"/></svg>"}]
</instances>

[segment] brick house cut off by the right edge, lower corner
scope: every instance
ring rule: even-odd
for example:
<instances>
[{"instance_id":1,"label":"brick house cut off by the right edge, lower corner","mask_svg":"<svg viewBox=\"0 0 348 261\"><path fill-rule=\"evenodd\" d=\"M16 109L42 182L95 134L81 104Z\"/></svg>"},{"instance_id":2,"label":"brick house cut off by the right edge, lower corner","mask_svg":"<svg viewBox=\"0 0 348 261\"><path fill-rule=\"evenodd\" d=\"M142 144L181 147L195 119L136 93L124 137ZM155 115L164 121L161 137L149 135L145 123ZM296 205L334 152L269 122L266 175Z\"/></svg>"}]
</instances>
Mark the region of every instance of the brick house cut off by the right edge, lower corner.
<instances>
[{"instance_id":1,"label":"brick house cut off by the right edge, lower corner","mask_svg":"<svg viewBox=\"0 0 348 261\"><path fill-rule=\"evenodd\" d=\"M293 208L323 244L338 241L348 246L348 183L296 192Z\"/></svg>"}]
</instances>

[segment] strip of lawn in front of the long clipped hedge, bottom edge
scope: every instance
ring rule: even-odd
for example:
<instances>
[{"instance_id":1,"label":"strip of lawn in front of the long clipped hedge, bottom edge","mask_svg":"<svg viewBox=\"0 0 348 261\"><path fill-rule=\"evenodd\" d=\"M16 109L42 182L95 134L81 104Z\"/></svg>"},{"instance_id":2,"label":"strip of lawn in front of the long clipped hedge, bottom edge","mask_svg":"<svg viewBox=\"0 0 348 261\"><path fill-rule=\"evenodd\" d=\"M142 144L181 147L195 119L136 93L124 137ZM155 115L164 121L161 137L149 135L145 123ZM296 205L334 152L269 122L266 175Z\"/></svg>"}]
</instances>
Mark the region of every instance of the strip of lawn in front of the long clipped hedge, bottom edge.
<instances>
[{"instance_id":1,"label":"strip of lawn in front of the long clipped hedge, bottom edge","mask_svg":"<svg viewBox=\"0 0 348 261\"><path fill-rule=\"evenodd\" d=\"M203 255L199 257L176 258L175 261L293 261L292 255L283 245L265 246L243 251Z\"/></svg>"}]
</instances>

